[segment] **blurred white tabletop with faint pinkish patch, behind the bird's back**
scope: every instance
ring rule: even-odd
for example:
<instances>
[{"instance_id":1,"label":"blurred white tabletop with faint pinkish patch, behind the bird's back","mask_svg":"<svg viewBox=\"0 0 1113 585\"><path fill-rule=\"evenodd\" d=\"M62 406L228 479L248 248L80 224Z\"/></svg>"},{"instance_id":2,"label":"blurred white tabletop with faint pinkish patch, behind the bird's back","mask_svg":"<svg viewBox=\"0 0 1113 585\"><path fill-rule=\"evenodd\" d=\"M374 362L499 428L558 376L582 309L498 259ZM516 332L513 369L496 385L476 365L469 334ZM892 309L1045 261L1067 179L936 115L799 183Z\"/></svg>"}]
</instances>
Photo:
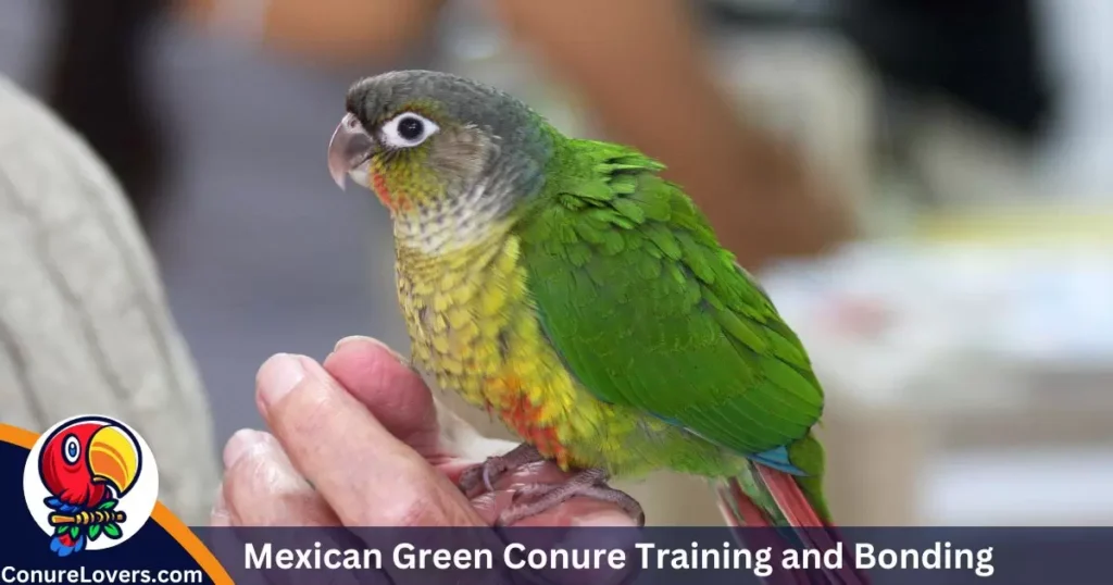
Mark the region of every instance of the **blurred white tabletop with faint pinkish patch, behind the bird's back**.
<instances>
[{"instance_id":1,"label":"blurred white tabletop with faint pinkish patch, behind the bird's back","mask_svg":"<svg viewBox=\"0 0 1113 585\"><path fill-rule=\"evenodd\" d=\"M1097 246L861 243L762 282L820 376L867 403L997 407L1025 398L1017 376L1113 381L1113 255Z\"/></svg>"}]
</instances>

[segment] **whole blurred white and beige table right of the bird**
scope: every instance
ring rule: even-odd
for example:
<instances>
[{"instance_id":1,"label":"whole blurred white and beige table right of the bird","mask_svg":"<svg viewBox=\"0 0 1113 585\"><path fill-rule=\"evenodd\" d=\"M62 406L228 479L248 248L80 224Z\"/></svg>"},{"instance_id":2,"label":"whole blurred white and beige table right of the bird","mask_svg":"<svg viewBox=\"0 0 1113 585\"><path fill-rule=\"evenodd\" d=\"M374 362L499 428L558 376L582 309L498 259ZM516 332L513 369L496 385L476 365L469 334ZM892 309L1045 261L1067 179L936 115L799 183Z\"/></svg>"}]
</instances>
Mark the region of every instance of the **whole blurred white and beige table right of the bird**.
<instances>
[{"instance_id":1,"label":"whole blurred white and beige table right of the bird","mask_svg":"<svg viewBox=\"0 0 1113 585\"><path fill-rule=\"evenodd\" d=\"M828 390L845 524L1113 520L1111 227L972 208L764 275Z\"/></svg>"}]
</instances>

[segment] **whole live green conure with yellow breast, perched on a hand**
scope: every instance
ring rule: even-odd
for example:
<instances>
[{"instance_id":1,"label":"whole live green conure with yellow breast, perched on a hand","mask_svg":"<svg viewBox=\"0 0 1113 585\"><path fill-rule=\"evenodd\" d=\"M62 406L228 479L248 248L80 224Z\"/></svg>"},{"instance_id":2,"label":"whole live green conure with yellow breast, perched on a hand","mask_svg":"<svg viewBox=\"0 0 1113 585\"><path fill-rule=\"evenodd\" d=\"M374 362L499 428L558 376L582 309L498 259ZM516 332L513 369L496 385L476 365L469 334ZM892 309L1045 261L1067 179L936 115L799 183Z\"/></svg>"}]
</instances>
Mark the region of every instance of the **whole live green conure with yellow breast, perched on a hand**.
<instances>
[{"instance_id":1,"label":"whole live green conure with yellow breast, perched on a hand","mask_svg":"<svg viewBox=\"0 0 1113 585\"><path fill-rule=\"evenodd\" d=\"M830 525L809 359L660 163L433 71L355 84L328 163L391 211L414 365L524 441L462 488L577 470L500 521L573 496L641 517L605 480L672 469L715 481L736 525Z\"/></svg>"}]
</instances>

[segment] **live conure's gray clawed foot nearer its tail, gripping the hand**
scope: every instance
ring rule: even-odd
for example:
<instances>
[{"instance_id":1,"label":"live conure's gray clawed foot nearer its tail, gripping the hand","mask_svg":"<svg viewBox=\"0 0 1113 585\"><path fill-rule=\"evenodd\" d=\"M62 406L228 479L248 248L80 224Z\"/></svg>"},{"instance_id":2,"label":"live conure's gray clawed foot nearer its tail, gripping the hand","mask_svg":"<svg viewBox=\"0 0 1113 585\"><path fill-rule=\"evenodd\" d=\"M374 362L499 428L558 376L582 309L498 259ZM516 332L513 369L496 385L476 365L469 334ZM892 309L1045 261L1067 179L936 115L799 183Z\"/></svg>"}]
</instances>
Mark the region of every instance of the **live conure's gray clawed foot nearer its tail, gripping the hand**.
<instances>
[{"instance_id":1,"label":"live conure's gray clawed foot nearer its tail, gripping the hand","mask_svg":"<svg viewBox=\"0 0 1113 585\"><path fill-rule=\"evenodd\" d=\"M499 515L496 526L510 526L523 518L536 516L578 497L587 497L613 504L638 521L646 525L646 513L641 504L626 491L607 485L607 472L602 469L585 469L563 484L530 484L514 490L513 504Z\"/></svg>"}]
</instances>

